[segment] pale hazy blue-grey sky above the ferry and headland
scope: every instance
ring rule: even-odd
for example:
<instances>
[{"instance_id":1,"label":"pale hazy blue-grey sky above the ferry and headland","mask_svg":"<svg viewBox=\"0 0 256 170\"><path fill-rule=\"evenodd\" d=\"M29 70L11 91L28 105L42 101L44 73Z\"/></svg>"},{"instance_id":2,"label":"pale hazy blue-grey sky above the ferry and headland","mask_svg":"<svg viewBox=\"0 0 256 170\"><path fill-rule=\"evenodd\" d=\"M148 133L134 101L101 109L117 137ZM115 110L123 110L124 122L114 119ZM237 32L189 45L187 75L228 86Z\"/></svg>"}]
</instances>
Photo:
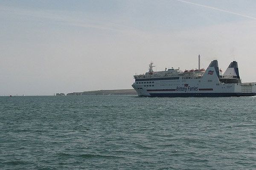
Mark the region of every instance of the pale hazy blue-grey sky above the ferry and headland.
<instances>
[{"instance_id":1,"label":"pale hazy blue-grey sky above the ferry and headland","mask_svg":"<svg viewBox=\"0 0 256 170\"><path fill-rule=\"evenodd\" d=\"M0 95L128 89L153 61L256 81L255 0L1 0Z\"/></svg>"}]
</instances>

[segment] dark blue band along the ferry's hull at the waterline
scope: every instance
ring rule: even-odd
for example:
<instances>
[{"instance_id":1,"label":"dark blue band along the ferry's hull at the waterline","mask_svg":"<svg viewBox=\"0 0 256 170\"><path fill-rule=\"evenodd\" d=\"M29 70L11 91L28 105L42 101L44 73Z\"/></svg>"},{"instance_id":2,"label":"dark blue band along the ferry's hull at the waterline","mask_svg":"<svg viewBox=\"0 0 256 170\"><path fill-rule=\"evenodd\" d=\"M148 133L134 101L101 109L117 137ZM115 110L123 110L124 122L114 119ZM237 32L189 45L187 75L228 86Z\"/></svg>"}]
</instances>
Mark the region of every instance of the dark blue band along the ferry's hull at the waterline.
<instances>
[{"instance_id":1,"label":"dark blue band along the ferry's hull at the waterline","mask_svg":"<svg viewBox=\"0 0 256 170\"><path fill-rule=\"evenodd\" d=\"M232 97L256 96L256 93L151 93L151 97Z\"/></svg>"}]
</instances>

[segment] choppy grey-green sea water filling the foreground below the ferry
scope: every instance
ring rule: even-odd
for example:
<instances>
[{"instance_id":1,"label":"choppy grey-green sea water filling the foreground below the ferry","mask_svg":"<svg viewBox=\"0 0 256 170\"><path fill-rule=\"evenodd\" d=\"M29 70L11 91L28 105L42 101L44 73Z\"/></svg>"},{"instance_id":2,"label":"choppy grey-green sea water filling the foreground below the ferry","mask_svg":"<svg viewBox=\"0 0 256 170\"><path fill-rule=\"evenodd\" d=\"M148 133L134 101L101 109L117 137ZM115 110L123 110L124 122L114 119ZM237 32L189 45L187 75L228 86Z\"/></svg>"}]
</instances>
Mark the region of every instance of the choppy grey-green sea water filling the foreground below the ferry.
<instances>
[{"instance_id":1,"label":"choppy grey-green sea water filling the foreground below the ferry","mask_svg":"<svg viewBox=\"0 0 256 170\"><path fill-rule=\"evenodd\" d=\"M256 169L256 97L0 97L0 169Z\"/></svg>"}]
</instances>

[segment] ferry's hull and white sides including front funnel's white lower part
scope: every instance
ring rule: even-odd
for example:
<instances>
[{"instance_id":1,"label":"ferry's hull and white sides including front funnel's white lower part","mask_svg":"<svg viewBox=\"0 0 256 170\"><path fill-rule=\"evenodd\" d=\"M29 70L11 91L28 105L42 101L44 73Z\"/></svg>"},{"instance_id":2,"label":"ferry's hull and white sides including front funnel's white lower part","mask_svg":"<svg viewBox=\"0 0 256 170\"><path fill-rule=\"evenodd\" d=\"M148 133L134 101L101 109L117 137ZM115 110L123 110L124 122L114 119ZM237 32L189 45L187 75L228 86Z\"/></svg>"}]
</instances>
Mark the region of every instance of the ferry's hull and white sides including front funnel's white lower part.
<instances>
[{"instance_id":1,"label":"ferry's hull and white sides including front funnel's white lower part","mask_svg":"<svg viewBox=\"0 0 256 170\"><path fill-rule=\"evenodd\" d=\"M202 73L201 77L189 77L189 75L192 74L180 74L182 76L178 76L179 74L176 75L177 76L171 77L156 77L154 75L137 77L132 87L137 91L139 96L151 97L219 97L256 95L256 82L224 83L224 81L232 82L237 79L220 79L215 67L208 67L207 70Z\"/></svg>"}]
</instances>

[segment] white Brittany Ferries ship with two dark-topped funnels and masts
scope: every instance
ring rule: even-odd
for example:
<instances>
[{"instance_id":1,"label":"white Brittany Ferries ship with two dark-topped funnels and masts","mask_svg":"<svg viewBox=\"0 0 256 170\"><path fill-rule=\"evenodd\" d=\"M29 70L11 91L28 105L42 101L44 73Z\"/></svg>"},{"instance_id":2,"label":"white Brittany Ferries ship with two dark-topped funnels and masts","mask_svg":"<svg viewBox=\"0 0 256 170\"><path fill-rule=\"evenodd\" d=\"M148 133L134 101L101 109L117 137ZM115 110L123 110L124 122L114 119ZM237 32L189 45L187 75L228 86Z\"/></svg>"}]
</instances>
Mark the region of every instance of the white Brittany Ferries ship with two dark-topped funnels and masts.
<instances>
[{"instance_id":1,"label":"white Brittany Ferries ship with two dark-topped funnels and masts","mask_svg":"<svg viewBox=\"0 0 256 170\"><path fill-rule=\"evenodd\" d=\"M153 71L153 62L148 72L135 75L132 87L139 96L150 97L228 97L256 96L256 82L241 82L236 61L228 66L222 74L218 61L213 60L205 70L198 69L182 71L180 68Z\"/></svg>"}]
</instances>

